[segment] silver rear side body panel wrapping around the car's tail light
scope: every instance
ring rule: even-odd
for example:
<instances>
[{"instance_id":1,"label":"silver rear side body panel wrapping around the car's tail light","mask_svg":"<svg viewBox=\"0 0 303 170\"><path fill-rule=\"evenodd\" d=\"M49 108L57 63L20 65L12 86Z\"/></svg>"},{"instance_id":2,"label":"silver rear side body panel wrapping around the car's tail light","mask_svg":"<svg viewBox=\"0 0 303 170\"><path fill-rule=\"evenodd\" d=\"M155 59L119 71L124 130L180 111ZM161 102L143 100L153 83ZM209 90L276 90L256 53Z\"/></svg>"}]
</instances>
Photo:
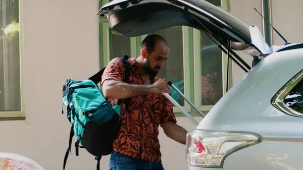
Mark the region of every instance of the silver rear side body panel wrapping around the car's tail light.
<instances>
[{"instance_id":1,"label":"silver rear side body panel wrapping around the car's tail light","mask_svg":"<svg viewBox=\"0 0 303 170\"><path fill-rule=\"evenodd\" d=\"M199 123L197 129L254 132L261 143L227 156L223 169L302 169L302 118L271 103L302 70L303 49L275 52L251 69ZM274 83L273 83L274 82Z\"/></svg>"}]
</instances>

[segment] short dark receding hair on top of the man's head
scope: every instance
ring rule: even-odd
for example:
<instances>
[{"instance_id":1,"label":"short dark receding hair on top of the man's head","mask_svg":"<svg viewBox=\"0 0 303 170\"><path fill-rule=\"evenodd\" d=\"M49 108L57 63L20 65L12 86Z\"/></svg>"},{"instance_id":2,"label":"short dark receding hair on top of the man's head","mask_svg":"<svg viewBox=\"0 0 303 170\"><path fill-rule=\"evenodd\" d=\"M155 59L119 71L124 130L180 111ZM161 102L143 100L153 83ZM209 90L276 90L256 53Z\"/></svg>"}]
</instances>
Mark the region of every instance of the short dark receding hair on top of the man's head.
<instances>
[{"instance_id":1,"label":"short dark receding hair on top of the man's head","mask_svg":"<svg viewBox=\"0 0 303 170\"><path fill-rule=\"evenodd\" d=\"M148 53L154 52L156 48L156 44L159 41L163 41L165 45L168 45L166 40L160 35L157 34L147 35L141 43L140 50L145 48Z\"/></svg>"}]
</instances>

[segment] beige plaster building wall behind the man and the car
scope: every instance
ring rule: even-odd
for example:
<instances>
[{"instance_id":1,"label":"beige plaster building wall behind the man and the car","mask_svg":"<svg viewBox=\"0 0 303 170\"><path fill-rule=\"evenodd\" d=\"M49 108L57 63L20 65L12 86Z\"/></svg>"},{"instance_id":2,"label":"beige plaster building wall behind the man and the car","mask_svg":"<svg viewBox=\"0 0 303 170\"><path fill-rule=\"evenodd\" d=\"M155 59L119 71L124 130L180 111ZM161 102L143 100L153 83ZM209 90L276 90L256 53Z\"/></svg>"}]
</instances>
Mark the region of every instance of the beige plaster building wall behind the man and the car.
<instances>
[{"instance_id":1,"label":"beige plaster building wall behind the man and the car","mask_svg":"<svg viewBox=\"0 0 303 170\"><path fill-rule=\"evenodd\" d=\"M281 33L295 42L302 35L295 17L299 5L292 7L280 0L273 7L273 23ZM294 1L294 0L292 0ZM28 0L21 11L24 15L24 70L25 73L25 121L2 121L0 151L25 155L46 169L62 169L68 146L70 123L61 115L62 86L67 78L87 79L99 69L98 0ZM300 1L296 1L303 4ZM280 6L278 5L280 4ZM261 10L259 1L231 0L231 14L247 25L258 25L262 29L260 16L252 7ZM284 8L284 10L283 10ZM286 9L285 9L286 8ZM278 11L283 11L279 13ZM300 12L301 16L302 12ZM283 17L292 25L291 32L279 23ZM284 21L285 21L284 20ZM299 36L301 36L299 38ZM279 42L275 37L275 42ZM244 56L250 64L252 58ZM68 65L73 67L68 67ZM234 82L244 72L234 66ZM197 117L198 121L201 118ZM187 130L194 125L186 117L177 117L178 124ZM185 146L165 136L160 128L160 144L163 164L166 169L186 169ZM74 140L75 141L75 140ZM80 149L75 156L74 147L69 155L66 169L95 169L94 156ZM101 169L108 169L109 156L104 156Z\"/></svg>"}]
</instances>

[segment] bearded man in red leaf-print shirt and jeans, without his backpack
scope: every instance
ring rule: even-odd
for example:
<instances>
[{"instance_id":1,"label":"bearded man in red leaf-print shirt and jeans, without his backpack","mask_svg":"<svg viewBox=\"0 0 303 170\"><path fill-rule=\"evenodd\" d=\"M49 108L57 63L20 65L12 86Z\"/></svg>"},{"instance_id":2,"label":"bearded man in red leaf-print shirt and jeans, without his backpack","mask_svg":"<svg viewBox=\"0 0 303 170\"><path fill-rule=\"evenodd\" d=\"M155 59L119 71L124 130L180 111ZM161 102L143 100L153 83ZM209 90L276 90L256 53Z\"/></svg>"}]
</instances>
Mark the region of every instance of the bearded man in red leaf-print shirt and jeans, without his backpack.
<instances>
[{"instance_id":1,"label":"bearded man in red leaf-print shirt and jeans, without his backpack","mask_svg":"<svg viewBox=\"0 0 303 170\"><path fill-rule=\"evenodd\" d=\"M168 84L157 74L168 59L169 47L159 35L148 35L141 43L140 55L129 59L130 75L123 82L125 69L120 58L113 59L102 76L103 93L112 105L121 104L121 126L113 144L110 169L164 169L158 140L161 125L165 134L182 144L186 130L176 124L173 105L162 92Z\"/></svg>"}]
</instances>

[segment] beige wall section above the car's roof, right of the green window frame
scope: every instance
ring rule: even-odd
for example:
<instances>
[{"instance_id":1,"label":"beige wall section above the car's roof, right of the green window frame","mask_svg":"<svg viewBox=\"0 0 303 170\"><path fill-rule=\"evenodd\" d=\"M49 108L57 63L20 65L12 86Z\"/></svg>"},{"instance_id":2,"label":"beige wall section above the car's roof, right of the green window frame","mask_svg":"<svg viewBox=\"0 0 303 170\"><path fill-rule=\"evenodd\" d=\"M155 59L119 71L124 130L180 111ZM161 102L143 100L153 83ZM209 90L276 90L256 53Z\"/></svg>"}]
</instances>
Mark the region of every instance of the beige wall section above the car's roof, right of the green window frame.
<instances>
[{"instance_id":1,"label":"beige wall section above the car's roof, right of the green window frame","mask_svg":"<svg viewBox=\"0 0 303 170\"><path fill-rule=\"evenodd\" d=\"M303 16L303 1L300 0L271 0L272 4L272 25L291 43L303 42L301 28L303 22L300 17ZM254 10L254 7L262 14L262 1L256 0L230 0L231 15L238 18L247 26L257 25L261 31L262 17ZM273 30L273 45L283 45L283 39ZM237 52L250 66L252 57ZM233 63L233 83L236 83L245 74L236 64Z\"/></svg>"}]
</instances>

